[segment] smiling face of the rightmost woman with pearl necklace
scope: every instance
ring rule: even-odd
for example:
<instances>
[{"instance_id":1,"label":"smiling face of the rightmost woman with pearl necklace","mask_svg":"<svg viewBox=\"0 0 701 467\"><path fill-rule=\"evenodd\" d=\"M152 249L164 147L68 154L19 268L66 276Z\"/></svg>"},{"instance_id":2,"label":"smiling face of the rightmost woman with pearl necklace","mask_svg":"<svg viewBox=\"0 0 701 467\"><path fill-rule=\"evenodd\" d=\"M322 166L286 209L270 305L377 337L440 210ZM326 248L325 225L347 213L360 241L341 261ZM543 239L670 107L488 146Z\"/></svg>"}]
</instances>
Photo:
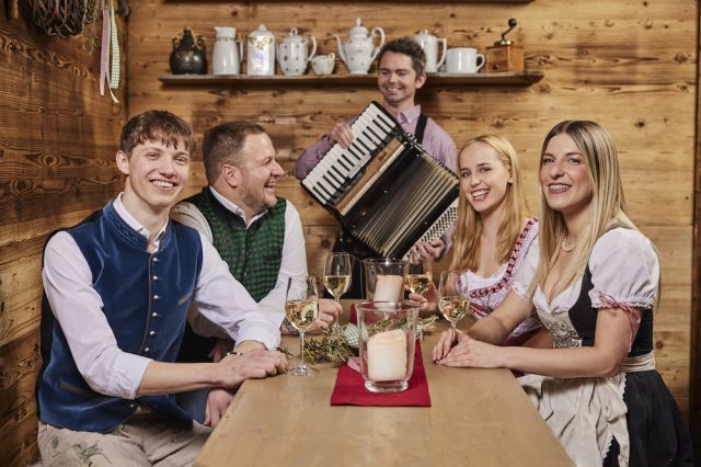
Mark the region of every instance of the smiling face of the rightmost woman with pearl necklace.
<instances>
[{"instance_id":1,"label":"smiling face of the rightmost woman with pearl necklace","mask_svg":"<svg viewBox=\"0 0 701 467\"><path fill-rule=\"evenodd\" d=\"M548 141L540 160L540 186L548 206L564 215L581 213L591 202L585 157L566 133Z\"/></svg>"}]
</instances>

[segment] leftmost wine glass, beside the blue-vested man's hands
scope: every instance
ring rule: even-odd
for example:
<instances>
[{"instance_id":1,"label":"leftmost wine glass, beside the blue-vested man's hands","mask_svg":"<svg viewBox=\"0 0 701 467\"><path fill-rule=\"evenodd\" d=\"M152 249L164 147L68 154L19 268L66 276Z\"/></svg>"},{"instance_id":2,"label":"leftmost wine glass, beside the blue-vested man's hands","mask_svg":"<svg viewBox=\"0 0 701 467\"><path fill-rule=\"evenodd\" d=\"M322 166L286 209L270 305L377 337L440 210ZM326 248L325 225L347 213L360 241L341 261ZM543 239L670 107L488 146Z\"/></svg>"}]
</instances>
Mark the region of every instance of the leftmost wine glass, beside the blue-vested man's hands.
<instances>
[{"instance_id":1,"label":"leftmost wine glass, beside the blue-vested man's hands","mask_svg":"<svg viewBox=\"0 0 701 467\"><path fill-rule=\"evenodd\" d=\"M285 316L299 331L299 365L288 372L294 376L311 376L317 371L304 364L304 331L319 316L317 277L311 275L290 277L287 282Z\"/></svg>"}]
</instances>

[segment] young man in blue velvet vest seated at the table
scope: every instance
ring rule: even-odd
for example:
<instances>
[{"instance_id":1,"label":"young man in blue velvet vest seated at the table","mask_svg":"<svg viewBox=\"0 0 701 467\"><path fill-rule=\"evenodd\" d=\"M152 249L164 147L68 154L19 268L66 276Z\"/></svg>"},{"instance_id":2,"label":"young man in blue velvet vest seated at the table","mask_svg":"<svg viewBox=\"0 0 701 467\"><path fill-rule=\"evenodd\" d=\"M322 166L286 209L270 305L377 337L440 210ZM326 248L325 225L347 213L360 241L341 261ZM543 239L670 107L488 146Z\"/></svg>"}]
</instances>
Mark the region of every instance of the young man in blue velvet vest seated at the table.
<instances>
[{"instance_id":1,"label":"young man in blue velvet vest seated at the table","mask_svg":"<svg viewBox=\"0 0 701 467\"><path fill-rule=\"evenodd\" d=\"M44 252L38 445L45 465L189 465L209 429L175 392L234 388L285 372L279 330L209 242L169 212L189 176L195 138L164 111L129 119L124 192ZM186 312L234 339L218 363L173 363Z\"/></svg>"}]
</instances>

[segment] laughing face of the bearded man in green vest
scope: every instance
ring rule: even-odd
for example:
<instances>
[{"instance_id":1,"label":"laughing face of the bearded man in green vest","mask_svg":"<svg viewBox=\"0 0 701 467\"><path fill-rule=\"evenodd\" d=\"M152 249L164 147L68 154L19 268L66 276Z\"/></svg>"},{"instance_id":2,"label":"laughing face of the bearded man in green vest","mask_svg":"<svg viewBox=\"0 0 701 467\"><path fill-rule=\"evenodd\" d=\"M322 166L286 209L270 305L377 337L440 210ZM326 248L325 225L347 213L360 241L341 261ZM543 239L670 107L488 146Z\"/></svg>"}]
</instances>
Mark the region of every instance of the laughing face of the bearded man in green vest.
<instances>
[{"instance_id":1,"label":"laughing face of the bearded man in green vest","mask_svg":"<svg viewBox=\"0 0 701 467\"><path fill-rule=\"evenodd\" d=\"M277 180L285 174L275 160L273 141L265 133L248 135L241 149L239 167L225 166L225 176L232 176L235 190L232 202L241 207L246 220L275 206Z\"/></svg>"}]
</instances>

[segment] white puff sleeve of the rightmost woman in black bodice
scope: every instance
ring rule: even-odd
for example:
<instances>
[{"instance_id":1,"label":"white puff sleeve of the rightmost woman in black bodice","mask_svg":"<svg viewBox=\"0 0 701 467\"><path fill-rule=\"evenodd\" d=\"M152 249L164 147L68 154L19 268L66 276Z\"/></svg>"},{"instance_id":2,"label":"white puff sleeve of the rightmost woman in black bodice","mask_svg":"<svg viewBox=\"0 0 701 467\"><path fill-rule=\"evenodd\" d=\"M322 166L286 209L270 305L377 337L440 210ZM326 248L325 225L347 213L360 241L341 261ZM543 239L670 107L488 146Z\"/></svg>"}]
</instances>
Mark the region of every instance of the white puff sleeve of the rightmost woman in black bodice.
<instances>
[{"instance_id":1,"label":"white puff sleeve of the rightmost woman in black bodice","mask_svg":"<svg viewBox=\"0 0 701 467\"><path fill-rule=\"evenodd\" d=\"M659 261L639 230L616 228L597 240L589 260L595 308L650 308L657 297Z\"/></svg>"}]
</instances>

